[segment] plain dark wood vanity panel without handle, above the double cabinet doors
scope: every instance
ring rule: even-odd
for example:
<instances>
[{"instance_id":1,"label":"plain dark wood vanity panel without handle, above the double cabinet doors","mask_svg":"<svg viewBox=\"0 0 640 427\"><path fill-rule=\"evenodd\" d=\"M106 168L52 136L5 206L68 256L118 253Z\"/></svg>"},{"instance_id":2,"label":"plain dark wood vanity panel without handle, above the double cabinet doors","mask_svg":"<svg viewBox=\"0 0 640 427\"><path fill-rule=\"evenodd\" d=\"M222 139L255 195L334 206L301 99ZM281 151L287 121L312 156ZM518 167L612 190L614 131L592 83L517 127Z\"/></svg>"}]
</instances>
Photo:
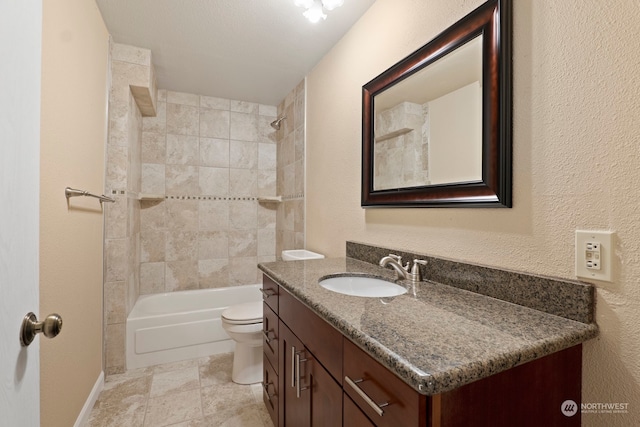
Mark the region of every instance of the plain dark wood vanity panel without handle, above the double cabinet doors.
<instances>
[{"instance_id":1,"label":"plain dark wood vanity panel without handle, above the double cabinet doors","mask_svg":"<svg viewBox=\"0 0 640 427\"><path fill-rule=\"evenodd\" d=\"M342 334L284 289L280 289L280 319L342 384Z\"/></svg>"}]
</instances>

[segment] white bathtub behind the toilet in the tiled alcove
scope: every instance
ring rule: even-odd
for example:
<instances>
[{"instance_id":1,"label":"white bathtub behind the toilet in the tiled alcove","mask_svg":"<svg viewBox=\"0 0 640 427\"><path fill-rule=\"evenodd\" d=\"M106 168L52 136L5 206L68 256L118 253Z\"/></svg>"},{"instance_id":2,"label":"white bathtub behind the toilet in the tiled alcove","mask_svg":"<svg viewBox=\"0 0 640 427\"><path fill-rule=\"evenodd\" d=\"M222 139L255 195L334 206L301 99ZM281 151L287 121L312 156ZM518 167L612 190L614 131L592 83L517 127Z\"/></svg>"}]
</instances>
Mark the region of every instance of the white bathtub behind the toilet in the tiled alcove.
<instances>
[{"instance_id":1,"label":"white bathtub behind the toilet in the tiled alcove","mask_svg":"<svg viewBox=\"0 0 640 427\"><path fill-rule=\"evenodd\" d=\"M220 315L262 299L262 285L142 295L127 317L127 369L231 352Z\"/></svg>"}]
</instances>

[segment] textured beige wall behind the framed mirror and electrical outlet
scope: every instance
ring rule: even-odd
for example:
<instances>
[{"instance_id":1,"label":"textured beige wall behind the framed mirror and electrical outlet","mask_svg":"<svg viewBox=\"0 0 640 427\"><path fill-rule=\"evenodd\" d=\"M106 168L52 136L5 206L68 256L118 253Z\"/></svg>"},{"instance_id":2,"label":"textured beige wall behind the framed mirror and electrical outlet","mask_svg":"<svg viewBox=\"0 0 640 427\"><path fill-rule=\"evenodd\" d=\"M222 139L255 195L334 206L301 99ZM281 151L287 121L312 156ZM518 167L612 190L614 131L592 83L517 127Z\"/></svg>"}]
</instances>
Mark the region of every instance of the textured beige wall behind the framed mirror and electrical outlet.
<instances>
[{"instance_id":1,"label":"textured beige wall behind the framed mirror and electrical outlet","mask_svg":"<svg viewBox=\"0 0 640 427\"><path fill-rule=\"evenodd\" d=\"M514 207L360 207L361 86L481 3L378 0L308 76L307 247L345 240L574 278L576 229L616 232L584 347L585 426L640 425L640 6L515 0Z\"/></svg>"}]
</instances>

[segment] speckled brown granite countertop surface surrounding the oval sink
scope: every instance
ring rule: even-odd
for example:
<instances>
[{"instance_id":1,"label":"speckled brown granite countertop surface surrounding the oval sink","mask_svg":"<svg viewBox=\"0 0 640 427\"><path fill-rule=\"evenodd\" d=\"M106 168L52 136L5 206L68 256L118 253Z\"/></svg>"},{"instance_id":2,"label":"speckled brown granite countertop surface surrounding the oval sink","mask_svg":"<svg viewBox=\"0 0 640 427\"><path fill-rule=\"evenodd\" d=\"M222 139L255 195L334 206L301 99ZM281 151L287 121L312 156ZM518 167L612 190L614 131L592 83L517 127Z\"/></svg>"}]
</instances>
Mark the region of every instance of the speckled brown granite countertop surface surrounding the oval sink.
<instances>
[{"instance_id":1,"label":"speckled brown granite countertop surface surrounding the oval sink","mask_svg":"<svg viewBox=\"0 0 640 427\"><path fill-rule=\"evenodd\" d=\"M270 262L259 268L421 394L458 388L580 344L595 324L434 282L397 283L408 292L363 298L318 281L360 273L395 281L396 273L352 258Z\"/></svg>"}]
</instances>

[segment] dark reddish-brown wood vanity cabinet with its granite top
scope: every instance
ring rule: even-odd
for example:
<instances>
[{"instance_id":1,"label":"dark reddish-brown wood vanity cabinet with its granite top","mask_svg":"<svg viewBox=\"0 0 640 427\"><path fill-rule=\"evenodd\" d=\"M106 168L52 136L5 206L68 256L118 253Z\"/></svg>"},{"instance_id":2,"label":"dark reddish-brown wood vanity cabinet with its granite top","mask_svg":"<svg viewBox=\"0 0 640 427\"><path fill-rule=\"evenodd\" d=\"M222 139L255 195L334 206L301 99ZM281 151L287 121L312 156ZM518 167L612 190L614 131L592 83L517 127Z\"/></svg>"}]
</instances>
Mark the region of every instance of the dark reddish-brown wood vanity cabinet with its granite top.
<instances>
[{"instance_id":1,"label":"dark reddish-brown wood vanity cabinet with its granite top","mask_svg":"<svg viewBox=\"0 0 640 427\"><path fill-rule=\"evenodd\" d=\"M580 425L593 324L429 282L389 300L318 285L387 273L348 258L260 268L263 394L277 427Z\"/></svg>"}]
</instances>

